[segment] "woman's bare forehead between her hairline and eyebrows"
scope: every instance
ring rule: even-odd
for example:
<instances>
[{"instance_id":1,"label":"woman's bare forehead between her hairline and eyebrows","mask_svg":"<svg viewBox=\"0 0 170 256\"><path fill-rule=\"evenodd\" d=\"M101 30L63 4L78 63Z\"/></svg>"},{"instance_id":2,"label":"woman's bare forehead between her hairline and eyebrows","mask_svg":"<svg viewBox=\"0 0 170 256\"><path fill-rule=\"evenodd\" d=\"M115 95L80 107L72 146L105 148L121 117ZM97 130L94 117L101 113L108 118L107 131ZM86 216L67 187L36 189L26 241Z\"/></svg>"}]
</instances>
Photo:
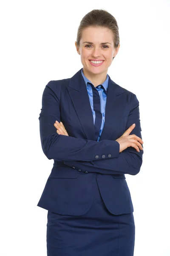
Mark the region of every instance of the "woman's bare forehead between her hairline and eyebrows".
<instances>
[{"instance_id":1,"label":"woman's bare forehead between her hairline and eyebrows","mask_svg":"<svg viewBox=\"0 0 170 256\"><path fill-rule=\"evenodd\" d=\"M113 32L105 27L88 27L82 29L81 43L84 41L113 43Z\"/></svg>"}]
</instances>

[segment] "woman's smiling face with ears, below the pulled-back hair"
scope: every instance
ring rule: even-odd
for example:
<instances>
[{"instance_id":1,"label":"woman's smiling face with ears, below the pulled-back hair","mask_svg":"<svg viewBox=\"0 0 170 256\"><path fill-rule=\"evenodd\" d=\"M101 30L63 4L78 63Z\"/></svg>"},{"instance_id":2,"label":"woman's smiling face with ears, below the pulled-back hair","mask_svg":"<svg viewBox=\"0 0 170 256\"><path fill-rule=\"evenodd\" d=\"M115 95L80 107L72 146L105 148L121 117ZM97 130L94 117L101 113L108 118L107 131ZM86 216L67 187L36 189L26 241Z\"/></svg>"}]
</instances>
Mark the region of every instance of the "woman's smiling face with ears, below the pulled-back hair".
<instances>
[{"instance_id":1,"label":"woman's smiling face with ears, below the pulled-back hair","mask_svg":"<svg viewBox=\"0 0 170 256\"><path fill-rule=\"evenodd\" d=\"M77 42L75 45L81 56L83 70L91 74L107 73L120 47L114 48L113 32L105 27L83 29L79 47Z\"/></svg>"}]
</instances>

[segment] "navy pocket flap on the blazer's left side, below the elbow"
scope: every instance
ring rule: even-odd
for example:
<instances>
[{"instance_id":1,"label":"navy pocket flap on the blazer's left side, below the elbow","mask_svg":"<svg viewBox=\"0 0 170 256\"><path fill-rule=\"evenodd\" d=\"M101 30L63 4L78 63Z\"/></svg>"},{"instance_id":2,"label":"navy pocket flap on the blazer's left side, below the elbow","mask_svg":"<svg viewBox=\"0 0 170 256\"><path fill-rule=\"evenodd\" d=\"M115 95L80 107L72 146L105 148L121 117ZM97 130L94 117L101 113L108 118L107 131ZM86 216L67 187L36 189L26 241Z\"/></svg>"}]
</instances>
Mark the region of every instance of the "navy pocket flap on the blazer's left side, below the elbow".
<instances>
[{"instance_id":1,"label":"navy pocket flap on the blazer's left side, below the elbow","mask_svg":"<svg viewBox=\"0 0 170 256\"><path fill-rule=\"evenodd\" d=\"M51 178L75 179L79 175L77 170L68 167L54 166L51 170Z\"/></svg>"}]
</instances>

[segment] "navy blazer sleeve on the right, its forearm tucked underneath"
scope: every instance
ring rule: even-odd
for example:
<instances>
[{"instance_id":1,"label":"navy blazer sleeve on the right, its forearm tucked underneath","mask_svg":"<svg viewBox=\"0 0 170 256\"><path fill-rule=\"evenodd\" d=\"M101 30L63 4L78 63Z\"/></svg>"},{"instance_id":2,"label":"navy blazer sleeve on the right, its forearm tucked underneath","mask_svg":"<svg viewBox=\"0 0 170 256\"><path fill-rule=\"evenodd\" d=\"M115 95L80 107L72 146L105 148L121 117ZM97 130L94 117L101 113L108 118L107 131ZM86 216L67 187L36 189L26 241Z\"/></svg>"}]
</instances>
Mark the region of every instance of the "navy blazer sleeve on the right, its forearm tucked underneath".
<instances>
[{"instance_id":1,"label":"navy blazer sleeve on the right, its forearm tucked underneath","mask_svg":"<svg viewBox=\"0 0 170 256\"><path fill-rule=\"evenodd\" d=\"M139 101L136 98L136 95L132 93L131 102L130 102L130 113L127 119L125 131L133 123L136 124L133 131L130 133L135 134L142 139L141 135L141 125L140 125L140 116L139 116ZM143 145L142 145L143 147ZM136 175L139 173L142 166L142 155L143 150L140 152L136 151L133 147L128 147L122 153L119 154L119 157L112 159L104 159L97 161L73 161L64 163L68 166L75 166L76 169L81 169L82 171L88 172L99 172L102 174L130 174Z\"/></svg>"}]
</instances>

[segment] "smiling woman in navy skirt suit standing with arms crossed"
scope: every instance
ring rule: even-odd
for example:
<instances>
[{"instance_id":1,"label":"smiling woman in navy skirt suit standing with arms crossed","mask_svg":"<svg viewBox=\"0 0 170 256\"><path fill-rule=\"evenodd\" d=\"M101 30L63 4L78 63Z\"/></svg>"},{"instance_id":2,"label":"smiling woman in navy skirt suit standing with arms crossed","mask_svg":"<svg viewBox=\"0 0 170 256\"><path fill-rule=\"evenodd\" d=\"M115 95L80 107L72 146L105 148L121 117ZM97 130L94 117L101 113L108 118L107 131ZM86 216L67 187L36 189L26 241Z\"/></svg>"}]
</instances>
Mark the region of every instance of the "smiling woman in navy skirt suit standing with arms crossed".
<instances>
[{"instance_id":1,"label":"smiling woman in navy skirt suit standing with arms crossed","mask_svg":"<svg viewBox=\"0 0 170 256\"><path fill-rule=\"evenodd\" d=\"M54 166L38 206L48 210L48 256L133 256L135 224L125 174L142 165L136 95L114 83L115 18L83 17L75 42L83 68L42 95L42 149ZM107 102L107 104L106 104Z\"/></svg>"}]
</instances>

